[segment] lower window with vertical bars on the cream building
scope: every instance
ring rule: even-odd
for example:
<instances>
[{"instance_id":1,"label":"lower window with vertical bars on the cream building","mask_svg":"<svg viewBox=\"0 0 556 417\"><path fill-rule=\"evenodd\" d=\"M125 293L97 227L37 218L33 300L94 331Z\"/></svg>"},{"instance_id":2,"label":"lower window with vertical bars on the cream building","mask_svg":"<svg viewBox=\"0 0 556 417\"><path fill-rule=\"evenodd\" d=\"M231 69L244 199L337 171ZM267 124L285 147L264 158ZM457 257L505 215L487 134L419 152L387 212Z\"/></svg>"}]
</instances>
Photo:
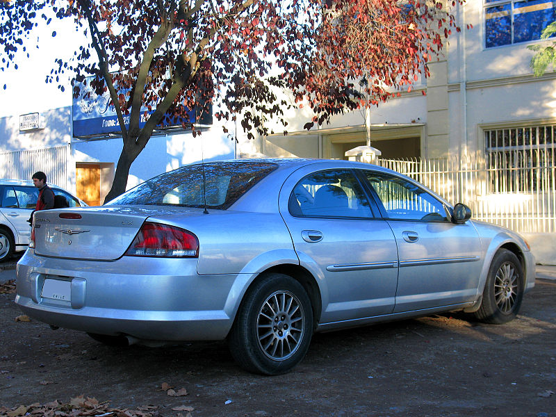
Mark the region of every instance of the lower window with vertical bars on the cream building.
<instances>
[{"instance_id":1,"label":"lower window with vertical bars on the cream building","mask_svg":"<svg viewBox=\"0 0 556 417\"><path fill-rule=\"evenodd\" d=\"M553 189L556 124L484 131L489 193Z\"/></svg>"}]
</instances>

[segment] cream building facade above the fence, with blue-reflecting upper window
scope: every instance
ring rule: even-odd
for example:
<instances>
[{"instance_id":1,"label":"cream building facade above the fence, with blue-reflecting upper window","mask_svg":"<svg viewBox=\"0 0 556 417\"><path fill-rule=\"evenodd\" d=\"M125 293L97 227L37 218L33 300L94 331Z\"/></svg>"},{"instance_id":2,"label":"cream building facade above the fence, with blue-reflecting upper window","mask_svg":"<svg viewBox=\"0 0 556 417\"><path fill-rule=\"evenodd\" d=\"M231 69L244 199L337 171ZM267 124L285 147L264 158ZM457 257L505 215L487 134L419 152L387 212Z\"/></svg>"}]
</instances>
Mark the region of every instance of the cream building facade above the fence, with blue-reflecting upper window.
<instances>
[{"instance_id":1,"label":"cream building facade above the fence, with blue-reflecting upper window","mask_svg":"<svg viewBox=\"0 0 556 417\"><path fill-rule=\"evenodd\" d=\"M451 35L444 56L430 64L431 77L371 109L373 146L385 158L484 154L493 147L485 139L493 129L556 123L556 73L550 68L534 77L533 52L527 49L552 42L539 40L539 24L556 20L553 2L468 0L452 13L461 33ZM245 142L240 151L343 158L344 149L365 145L363 109L333 117L330 124L310 131L302 127L311 119L309 111L286 116L287 136Z\"/></svg>"}]
</instances>

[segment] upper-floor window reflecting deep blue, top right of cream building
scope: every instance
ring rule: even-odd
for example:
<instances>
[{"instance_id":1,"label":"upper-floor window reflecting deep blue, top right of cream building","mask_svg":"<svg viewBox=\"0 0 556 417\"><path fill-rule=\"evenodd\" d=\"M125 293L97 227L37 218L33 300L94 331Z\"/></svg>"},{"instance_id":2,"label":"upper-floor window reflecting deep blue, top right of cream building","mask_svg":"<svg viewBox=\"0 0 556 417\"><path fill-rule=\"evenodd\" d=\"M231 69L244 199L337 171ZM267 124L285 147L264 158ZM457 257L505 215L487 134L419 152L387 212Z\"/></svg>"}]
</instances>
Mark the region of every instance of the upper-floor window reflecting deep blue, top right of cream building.
<instances>
[{"instance_id":1,"label":"upper-floor window reflecting deep blue, top right of cream building","mask_svg":"<svg viewBox=\"0 0 556 417\"><path fill-rule=\"evenodd\" d=\"M528 42L541 38L556 20L556 2L548 0L484 0L485 47Z\"/></svg>"}]
</instances>

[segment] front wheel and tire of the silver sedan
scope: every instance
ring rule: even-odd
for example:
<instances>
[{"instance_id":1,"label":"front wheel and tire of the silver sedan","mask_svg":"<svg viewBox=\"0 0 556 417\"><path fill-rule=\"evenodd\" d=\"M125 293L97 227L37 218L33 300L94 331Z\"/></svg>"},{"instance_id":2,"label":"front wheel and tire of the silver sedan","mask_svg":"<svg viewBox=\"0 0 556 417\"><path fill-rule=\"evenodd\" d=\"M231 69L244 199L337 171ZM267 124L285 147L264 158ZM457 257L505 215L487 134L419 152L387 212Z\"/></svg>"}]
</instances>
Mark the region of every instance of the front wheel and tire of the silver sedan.
<instances>
[{"instance_id":1,"label":"front wheel and tire of the silver sedan","mask_svg":"<svg viewBox=\"0 0 556 417\"><path fill-rule=\"evenodd\" d=\"M494 255L475 317L486 323L502 325L514 320L523 300L523 267L517 256L501 249Z\"/></svg>"}]
</instances>

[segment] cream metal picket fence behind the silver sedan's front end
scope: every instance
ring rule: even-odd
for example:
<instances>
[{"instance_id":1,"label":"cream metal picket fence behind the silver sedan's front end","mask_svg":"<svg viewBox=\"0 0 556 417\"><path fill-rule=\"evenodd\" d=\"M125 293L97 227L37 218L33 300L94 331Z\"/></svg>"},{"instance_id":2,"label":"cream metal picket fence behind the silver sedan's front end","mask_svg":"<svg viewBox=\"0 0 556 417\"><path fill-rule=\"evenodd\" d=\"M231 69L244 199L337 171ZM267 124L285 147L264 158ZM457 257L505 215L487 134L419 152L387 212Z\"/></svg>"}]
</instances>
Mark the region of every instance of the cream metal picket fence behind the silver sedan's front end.
<instances>
[{"instance_id":1,"label":"cream metal picket fence behind the silver sedan's front end","mask_svg":"<svg viewBox=\"0 0 556 417\"><path fill-rule=\"evenodd\" d=\"M379 159L484 220L521 233L556 231L556 167L543 149L487 152L484 157ZM553 151L551 151L553 153Z\"/></svg>"}]
</instances>

